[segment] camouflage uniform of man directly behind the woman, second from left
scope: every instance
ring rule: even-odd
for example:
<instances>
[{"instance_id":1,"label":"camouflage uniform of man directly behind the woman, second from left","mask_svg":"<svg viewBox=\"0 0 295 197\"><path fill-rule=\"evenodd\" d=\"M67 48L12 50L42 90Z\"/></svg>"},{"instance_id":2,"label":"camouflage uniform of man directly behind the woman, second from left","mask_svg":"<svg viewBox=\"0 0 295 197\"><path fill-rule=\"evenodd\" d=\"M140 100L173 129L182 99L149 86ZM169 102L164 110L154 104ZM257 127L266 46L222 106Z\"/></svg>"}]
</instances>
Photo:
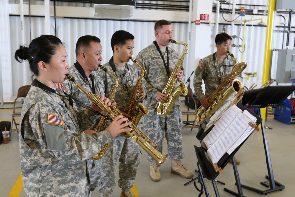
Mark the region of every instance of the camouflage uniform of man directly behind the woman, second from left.
<instances>
[{"instance_id":1,"label":"camouflage uniform of man directly behind the woman, second from left","mask_svg":"<svg viewBox=\"0 0 295 197\"><path fill-rule=\"evenodd\" d=\"M71 74L75 78L75 80L89 92L91 92L92 87L94 87L95 94L99 96L100 95L105 96L104 83L101 77L96 72L91 72L90 78L92 80L87 79L87 76L85 75L85 72L83 71L82 66L77 61L75 65L70 67L70 69L68 70L68 73ZM94 83L94 86L92 86L92 82ZM72 95L74 101L77 103L75 108L78 110L78 112L83 111L87 107L91 107L91 101L85 95L83 95L83 93L80 90L78 90L75 87L75 83L66 80L65 82L63 82L63 84L69 88L66 93L68 93L69 95ZM95 126L97 125L97 122L98 122L98 119L96 119L96 123L94 124L92 129L95 128ZM101 159L95 160L95 161L92 159L87 160L87 166L88 166L90 180L91 180L89 190L91 191L93 191L95 188L98 187L99 180L100 180L100 173L98 172L101 171L101 165L102 165Z\"/></svg>"}]
</instances>

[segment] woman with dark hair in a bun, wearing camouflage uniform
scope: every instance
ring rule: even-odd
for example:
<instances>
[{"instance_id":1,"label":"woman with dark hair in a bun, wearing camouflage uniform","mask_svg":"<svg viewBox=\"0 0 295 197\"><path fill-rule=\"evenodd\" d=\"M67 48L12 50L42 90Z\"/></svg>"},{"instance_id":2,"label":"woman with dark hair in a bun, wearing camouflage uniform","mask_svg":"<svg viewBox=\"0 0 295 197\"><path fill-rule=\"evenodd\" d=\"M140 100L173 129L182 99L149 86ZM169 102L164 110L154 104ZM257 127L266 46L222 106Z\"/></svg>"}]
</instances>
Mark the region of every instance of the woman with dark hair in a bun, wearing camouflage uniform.
<instances>
[{"instance_id":1,"label":"woman with dark hair in a bun, wearing camouflage uniform","mask_svg":"<svg viewBox=\"0 0 295 197\"><path fill-rule=\"evenodd\" d=\"M95 113L83 110L75 114L71 97L55 84L68 74L67 52L60 39L41 35L29 47L20 46L17 61L28 60L36 76L24 101L20 120L19 144L22 179L28 196L89 196L86 159L102 144L130 129L128 118L117 116L102 132L83 131L95 121ZM104 97L101 97L104 100ZM109 100L105 103L110 105ZM91 107L93 110L101 109ZM123 123L123 124L122 124Z\"/></svg>"}]
</instances>

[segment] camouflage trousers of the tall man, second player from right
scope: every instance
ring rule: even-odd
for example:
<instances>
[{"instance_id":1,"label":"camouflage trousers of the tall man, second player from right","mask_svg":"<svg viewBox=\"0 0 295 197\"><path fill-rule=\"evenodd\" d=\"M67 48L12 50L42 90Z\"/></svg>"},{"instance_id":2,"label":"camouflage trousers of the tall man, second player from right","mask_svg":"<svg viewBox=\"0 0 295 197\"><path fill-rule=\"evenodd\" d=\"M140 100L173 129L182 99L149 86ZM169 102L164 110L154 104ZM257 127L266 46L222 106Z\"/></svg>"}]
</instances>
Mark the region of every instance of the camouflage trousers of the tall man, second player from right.
<instances>
[{"instance_id":1,"label":"camouflage trousers of the tall man, second player from right","mask_svg":"<svg viewBox=\"0 0 295 197\"><path fill-rule=\"evenodd\" d=\"M150 139L159 145L158 151L162 153L163 136L168 144L168 156L171 160L184 158L182 149L182 114L180 106L174 105L171 112L166 117L157 115L157 111L153 106L148 107L149 115L142 116L144 132ZM148 154L149 162L155 160Z\"/></svg>"}]
</instances>

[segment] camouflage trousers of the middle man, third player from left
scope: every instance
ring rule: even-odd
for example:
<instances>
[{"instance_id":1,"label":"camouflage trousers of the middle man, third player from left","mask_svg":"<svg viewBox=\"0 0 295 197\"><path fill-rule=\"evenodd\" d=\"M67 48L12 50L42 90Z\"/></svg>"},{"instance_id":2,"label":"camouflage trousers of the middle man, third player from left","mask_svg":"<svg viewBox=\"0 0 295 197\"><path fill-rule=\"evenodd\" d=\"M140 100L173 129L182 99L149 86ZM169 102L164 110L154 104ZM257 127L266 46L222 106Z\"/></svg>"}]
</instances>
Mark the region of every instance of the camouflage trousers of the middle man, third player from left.
<instances>
[{"instance_id":1,"label":"camouflage trousers of the middle man, third player from left","mask_svg":"<svg viewBox=\"0 0 295 197\"><path fill-rule=\"evenodd\" d=\"M118 185L122 189L130 189L135 182L140 163L140 146L132 138L117 136L102 157L101 179L98 192L110 195L116 186L116 165L119 163Z\"/></svg>"}]
</instances>

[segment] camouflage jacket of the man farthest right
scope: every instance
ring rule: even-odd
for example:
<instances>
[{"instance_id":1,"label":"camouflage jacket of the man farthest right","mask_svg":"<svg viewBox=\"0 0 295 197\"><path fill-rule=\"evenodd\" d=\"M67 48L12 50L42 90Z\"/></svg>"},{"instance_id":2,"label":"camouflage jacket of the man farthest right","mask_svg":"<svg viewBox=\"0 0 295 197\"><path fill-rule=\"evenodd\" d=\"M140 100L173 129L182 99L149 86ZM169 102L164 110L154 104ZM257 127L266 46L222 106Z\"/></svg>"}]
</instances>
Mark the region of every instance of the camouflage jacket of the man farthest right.
<instances>
[{"instance_id":1,"label":"camouflage jacket of the man farthest right","mask_svg":"<svg viewBox=\"0 0 295 197\"><path fill-rule=\"evenodd\" d=\"M212 93L219 87L219 85L231 73L232 68L236 63L234 58L227 55L226 58L224 58L224 62L220 64L216 56L216 53L214 53L214 55L215 55L215 64L213 60L213 54L211 54L205 57L195 70L193 85L194 85L195 93L199 100L201 100L204 97L209 97L210 95L212 95ZM242 80L240 76L237 76L237 79ZM202 80L204 80L204 84L206 87L205 94L203 93L202 87L201 87Z\"/></svg>"}]
</instances>

